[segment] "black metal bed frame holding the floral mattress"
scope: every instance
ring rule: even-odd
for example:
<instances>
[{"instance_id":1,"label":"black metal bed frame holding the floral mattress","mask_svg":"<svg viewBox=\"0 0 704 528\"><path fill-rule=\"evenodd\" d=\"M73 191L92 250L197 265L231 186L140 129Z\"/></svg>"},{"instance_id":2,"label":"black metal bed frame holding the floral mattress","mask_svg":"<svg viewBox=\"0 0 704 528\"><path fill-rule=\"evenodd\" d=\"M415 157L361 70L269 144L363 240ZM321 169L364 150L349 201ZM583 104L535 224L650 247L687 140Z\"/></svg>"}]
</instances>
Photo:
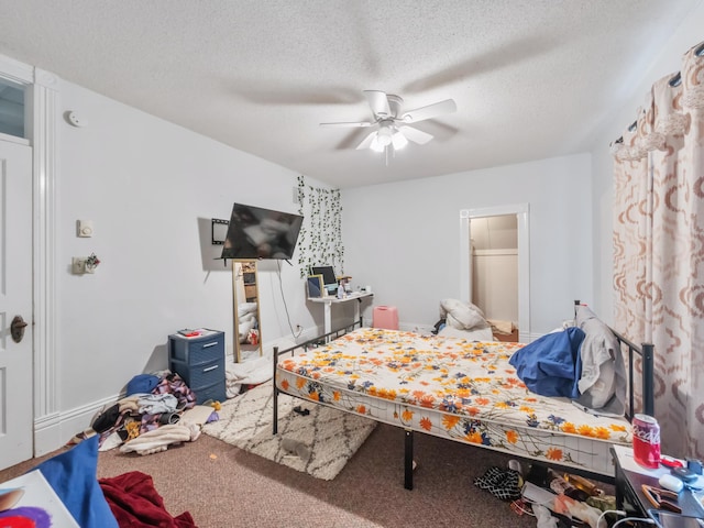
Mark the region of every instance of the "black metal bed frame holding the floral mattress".
<instances>
[{"instance_id":1,"label":"black metal bed frame holding the floral mattress","mask_svg":"<svg viewBox=\"0 0 704 528\"><path fill-rule=\"evenodd\" d=\"M575 300L575 309L579 301ZM278 364L278 358L285 354L295 355L297 351L305 352L309 349L315 349L320 346L321 344L328 343L329 341L337 339L345 333L351 332L355 328L362 328L362 317L359 320L354 321L352 324L348 324L346 327L342 327L338 330L333 330L332 332L328 332L322 336L318 336L314 339L307 340L302 343L296 344L295 346L290 346L288 349L278 350L278 346L274 346L273 353L273 377L272 385L274 391L274 416L273 416L273 426L272 426L272 435L276 435L278 432L278 395L279 393L285 393L280 391L276 386L276 366ZM640 348L634 344L630 340L625 338L623 334L614 331L614 336L618 340L618 343L622 345L622 352L626 352L628 355L628 410L626 411L626 418L628 421L632 420L635 413L635 397L634 397L634 371L635 371L635 362L636 355L641 359L641 381L642 381L642 414L653 416L654 411L654 393L653 393L653 352L654 346L649 343L644 343ZM404 487L406 490L414 488L414 430L404 428ZM590 472L575 470L573 468L566 468L571 472L583 473L590 475Z\"/></svg>"}]
</instances>

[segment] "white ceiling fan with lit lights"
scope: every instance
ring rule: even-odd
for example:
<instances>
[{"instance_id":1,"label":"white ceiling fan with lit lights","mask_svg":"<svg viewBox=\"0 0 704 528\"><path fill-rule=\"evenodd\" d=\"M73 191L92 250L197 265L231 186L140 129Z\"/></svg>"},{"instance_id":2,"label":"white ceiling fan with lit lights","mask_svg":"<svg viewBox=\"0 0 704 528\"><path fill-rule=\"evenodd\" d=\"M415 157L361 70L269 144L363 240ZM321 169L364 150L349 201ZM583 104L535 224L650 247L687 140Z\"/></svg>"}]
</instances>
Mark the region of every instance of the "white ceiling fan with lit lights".
<instances>
[{"instance_id":1,"label":"white ceiling fan with lit lights","mask_svg":"<svg viewBox=\"0 0 704 528\"><path fill-rule=\"evenodd\" d=\"M391 94L378 90L364 90L366 100L372 109L374 119L360 122L320 123L321 127L378 127L369 134L358 148L371 148L375 152L386 152L387 148L400 150L408 141L424 145L432 140L432 134L409 127L426 119L437 118L443 113L454 112L458 107L452 99L433 102L426 107L402 113L404 100Z\"/></svg>"}]
</instances>

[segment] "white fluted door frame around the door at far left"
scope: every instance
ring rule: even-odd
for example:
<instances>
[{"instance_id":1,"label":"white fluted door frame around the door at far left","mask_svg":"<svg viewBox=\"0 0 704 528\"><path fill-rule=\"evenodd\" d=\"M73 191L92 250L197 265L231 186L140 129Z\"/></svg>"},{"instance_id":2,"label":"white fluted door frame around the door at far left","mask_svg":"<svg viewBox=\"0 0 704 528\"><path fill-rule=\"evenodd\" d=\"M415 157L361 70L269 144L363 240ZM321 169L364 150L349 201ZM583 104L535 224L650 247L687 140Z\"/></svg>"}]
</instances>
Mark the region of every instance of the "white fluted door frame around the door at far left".
<instances>
[{"instance_id":1,"label":"white fluted door frame around the door at far left","mask_svg":"<svg viewBox=\"0 0 704 528\"><path fill-rule=\"evenodd\" d=\"M0 55L0 76L22 85L25 135L32 147L32 338L34 457L62 446L56 353L56 193L59 79Z\"/></svg>"}]
</instances>

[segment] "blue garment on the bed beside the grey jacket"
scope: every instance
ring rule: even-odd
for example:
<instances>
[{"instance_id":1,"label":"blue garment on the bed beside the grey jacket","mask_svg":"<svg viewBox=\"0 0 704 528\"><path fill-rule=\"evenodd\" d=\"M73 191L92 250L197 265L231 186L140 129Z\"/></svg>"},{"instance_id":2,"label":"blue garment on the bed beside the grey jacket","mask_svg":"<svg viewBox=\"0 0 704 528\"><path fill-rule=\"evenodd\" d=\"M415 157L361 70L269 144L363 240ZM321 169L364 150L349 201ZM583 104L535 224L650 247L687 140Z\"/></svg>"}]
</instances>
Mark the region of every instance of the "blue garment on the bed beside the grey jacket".
<instances>
[{"instance_id":1,"label":"blue garment on the bed beside the grey jacket","mask_svg":"<svg viewBox=\"0 0 704 528\"><path fill-rule=\"evenodd\" d=\"M548 333L527 344L508 362L518 377L536 394L542 396L580 397L578 383L582 375L580 345L584 332L576 327Z\"/></svg>"}]
</instances>

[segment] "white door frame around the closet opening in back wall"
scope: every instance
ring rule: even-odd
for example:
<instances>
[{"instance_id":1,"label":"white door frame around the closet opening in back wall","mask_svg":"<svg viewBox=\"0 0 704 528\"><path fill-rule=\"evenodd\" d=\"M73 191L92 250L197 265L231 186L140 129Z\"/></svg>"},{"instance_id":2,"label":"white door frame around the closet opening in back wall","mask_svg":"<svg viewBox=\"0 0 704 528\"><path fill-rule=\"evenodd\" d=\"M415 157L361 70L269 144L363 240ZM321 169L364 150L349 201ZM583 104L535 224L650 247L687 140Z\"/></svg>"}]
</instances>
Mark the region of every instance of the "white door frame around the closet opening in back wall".
<instances>
[{"instance_id":1,"label":"white door frame around the closet opening in back wall","mask_svg":"<svg viewBox=\"0 0 704 528\"><path fill-rule=\"evenodd\" d=\"M516 215L518 224L518 340L530 342L530 206L515 204L460 210L460 299L472 301L471 220Z\"/></svg>"}]
</instances>

